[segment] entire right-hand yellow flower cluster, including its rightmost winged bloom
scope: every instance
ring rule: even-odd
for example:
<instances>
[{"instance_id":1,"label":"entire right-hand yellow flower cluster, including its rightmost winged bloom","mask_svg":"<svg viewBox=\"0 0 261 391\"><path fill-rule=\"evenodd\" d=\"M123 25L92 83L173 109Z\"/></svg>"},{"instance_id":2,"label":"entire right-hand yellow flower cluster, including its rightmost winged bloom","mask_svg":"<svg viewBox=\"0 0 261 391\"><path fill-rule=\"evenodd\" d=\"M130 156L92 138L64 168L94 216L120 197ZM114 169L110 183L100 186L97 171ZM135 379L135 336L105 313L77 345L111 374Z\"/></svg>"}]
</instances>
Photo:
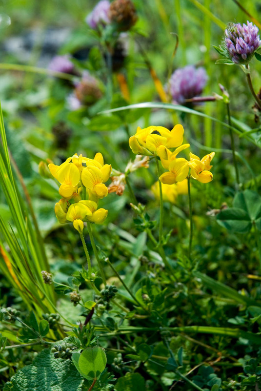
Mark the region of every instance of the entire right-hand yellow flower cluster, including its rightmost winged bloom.
<instances>
[{"instance_id":1,"label":"entire right-hand yellow flower cluster, including its rightmost winged bloom","mask_svg":"<svg viewBox=\"0 0 261 391\"><path fill-rule=\"evenodd\" d=\"M172 130L163 126L149 126L144 129L138 127L136 134L130 137L129 144L135 154L160 158L161 165L168 170L159 178L162 184L173 185L184 181L189 169L193 179L201 183L211 182L213 174L209 171L212 167L210 162L215 153L211 152L201 160L192 153L189 161L177 158L182 150L189 147L189 144L182 144L183 134L184 129L180 124L175 125ZM172 148L176 149L171 150Z\"/></svg>"}]
</instances>

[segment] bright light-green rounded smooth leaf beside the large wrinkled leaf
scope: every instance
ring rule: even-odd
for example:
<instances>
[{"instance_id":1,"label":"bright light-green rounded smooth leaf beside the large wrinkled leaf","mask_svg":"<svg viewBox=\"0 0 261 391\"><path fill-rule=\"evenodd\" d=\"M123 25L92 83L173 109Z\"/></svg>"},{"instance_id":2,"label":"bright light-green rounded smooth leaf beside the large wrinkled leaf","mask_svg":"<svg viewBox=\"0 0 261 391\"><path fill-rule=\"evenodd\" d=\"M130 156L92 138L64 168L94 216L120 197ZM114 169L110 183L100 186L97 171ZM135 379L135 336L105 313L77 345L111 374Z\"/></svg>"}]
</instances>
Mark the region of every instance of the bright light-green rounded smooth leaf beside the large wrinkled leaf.
<instances>
[{"instance_id":1,"label":"bright light-green rounded smooth leaf beside the large wrinkled leaf","mask_svg":"<svg viewBox=\"0 0 261 391\"><path fill-rule=\"evenodd\" d=\"M88 380L99 379L107 363L106 354L99 346L84 349L79 357L80 373Z\"/></svg>"}]
</instances>

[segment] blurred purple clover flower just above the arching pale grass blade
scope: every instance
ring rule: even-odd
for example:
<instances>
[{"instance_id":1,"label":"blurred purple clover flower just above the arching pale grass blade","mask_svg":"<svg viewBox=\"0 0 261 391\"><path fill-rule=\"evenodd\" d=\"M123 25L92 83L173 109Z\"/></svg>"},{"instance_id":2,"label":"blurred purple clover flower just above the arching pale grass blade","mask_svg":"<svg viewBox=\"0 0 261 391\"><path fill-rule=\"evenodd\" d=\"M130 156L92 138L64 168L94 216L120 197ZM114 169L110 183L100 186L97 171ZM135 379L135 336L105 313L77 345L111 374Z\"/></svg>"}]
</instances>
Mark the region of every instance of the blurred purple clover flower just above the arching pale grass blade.
<instances>
[{"instance_id":1,"label":"blurred purple clover flower just above the arching pale grass blade","mask_svg":"<svg viewBox=\"0 0 261 391\"><path fill-rule=\"evenodd\" d=\"M185 103L201 95L207 82L208 76L203 67L196 68L194 65L187 65L178 68L169 80L169 92L174 103Z\"/></svg>"}]
</instances>

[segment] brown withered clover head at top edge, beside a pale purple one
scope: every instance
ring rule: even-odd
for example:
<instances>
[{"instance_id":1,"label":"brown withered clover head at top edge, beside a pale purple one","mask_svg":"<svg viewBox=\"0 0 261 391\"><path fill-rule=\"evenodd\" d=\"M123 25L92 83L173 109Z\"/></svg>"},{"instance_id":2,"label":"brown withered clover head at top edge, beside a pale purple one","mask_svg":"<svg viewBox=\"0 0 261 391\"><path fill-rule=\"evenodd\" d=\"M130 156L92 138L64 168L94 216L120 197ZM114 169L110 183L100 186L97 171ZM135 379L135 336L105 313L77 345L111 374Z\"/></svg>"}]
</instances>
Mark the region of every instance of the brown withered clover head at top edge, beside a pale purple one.
<instances>
[{"instance_id":1,"label":"brown withered clover head at top edge, beside a pale purple one","mask_svg":"<svg viewBox=\"0 0 261 391\"><path fill-rule=\"evenodd\" d=\"M129 30L138 20L131 0L114 0L110 5L109 18L118 24L119 31Z\"/></svg>"}]
</instances>

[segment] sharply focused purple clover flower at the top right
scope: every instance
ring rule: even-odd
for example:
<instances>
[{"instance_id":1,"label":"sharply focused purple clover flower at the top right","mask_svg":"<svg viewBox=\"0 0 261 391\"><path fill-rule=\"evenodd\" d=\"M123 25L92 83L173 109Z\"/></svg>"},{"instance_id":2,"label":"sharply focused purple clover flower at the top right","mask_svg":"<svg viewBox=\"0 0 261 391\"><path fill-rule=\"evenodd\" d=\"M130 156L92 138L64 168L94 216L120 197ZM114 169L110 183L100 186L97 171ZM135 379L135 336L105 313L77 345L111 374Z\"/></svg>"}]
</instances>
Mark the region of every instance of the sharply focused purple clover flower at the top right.
<instances>
[{"instance_id":1,"label":"sharply focused purple clover flower at the top right","mask_svg":"<svg viewBox=\"0 0 261 391\"><path fill-rule=\"evenodd\" d=\"M254 52L261 46L258 27L252 22L228 23L225 44L230 59L235 64L248 64Z\"/></svg>"}]
</instances>

